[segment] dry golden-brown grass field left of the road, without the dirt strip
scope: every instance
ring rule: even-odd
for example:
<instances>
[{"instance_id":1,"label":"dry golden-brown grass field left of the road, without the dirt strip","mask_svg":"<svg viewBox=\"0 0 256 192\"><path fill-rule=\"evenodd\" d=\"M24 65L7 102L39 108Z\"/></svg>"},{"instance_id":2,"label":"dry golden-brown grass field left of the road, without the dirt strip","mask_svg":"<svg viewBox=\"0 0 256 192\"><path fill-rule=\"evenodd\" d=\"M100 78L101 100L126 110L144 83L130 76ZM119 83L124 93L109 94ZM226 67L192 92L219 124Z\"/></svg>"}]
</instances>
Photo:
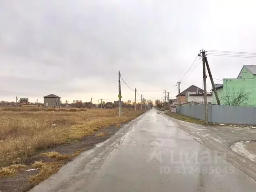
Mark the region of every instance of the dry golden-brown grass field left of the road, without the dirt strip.
<instances>
[{"instance_id":1,"label":"dry golden-brown grass field left of the road, without the dirt strip","mask_svg":"<svg viewBox=\"0 0 256 192\"><path fill-rule=\"evenodd\" d=\"M103 127L128 122L143 113L125 109L89 109L78 112L29 111L30 108L0 108L0 167L17 158L33 155L36 150L51 148L81 139ZM52 126L56 124L56 126Z\"/></svg>"}]
</instances>

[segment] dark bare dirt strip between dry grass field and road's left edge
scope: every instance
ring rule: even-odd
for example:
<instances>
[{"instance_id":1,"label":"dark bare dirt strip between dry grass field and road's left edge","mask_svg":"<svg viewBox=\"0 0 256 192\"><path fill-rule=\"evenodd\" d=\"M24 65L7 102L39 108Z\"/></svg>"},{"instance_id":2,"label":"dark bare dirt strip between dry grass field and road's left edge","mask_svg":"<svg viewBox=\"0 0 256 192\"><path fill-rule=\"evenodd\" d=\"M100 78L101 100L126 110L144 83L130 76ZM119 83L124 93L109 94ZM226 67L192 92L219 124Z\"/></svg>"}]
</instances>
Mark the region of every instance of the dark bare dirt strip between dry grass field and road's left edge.
<instances>
[{"instance_id":1,"label":"dark bare dirt strip between dry grass field and road's left edge","mask_svg":"<svg viewBox=\"0 0 256 192\"><path fill-rule=\"evenodd\" d=\"M86 136L82 138L82 140L80 141L77 140L67 144L56 146L54 148L42 150L40 152L38 151L36 155L31 156L26 160L24 160L24 162L22 162L22 164L25 164L26 167L19 170L16 176L0 179L0 191L1 192L24 192L24 191L28 191L30 188L38 184L38 182L30 182L29 178L31 176L37 175L40 172L40 169L26 171L29 169L33 169L31 164L36 161L42 161L44 163L57 162L58 164L56 164L56 166L60 168L62 165L72 161L74 158L74 157L71 157L71 158L58 160L56 158L49 158L47 156L43 156L42 153L59 152L62 155L72 155L72 154L78 155L80 154L80 152L84 150L89 150L93 148L96 144L107 140L112 135L114 135L118 129L119 128L117 127L108 127L108 128L100 129L99 131L95 132L92 136Z\"/></svg>"}]
</instances>

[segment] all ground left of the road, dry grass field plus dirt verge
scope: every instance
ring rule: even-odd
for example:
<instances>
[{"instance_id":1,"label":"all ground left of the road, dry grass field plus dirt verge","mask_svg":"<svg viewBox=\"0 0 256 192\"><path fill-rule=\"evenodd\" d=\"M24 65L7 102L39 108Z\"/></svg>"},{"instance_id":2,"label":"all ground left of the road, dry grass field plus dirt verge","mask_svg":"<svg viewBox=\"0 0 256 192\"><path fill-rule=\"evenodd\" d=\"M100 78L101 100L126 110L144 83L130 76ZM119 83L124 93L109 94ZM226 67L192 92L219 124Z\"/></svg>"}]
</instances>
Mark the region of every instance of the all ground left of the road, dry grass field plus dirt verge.
<instances>
[{"instance_id":1,"label":"all ground left of the road, dry grass field plus dirt verge","mask_svg":"<svg viewBox=\"0 0 256 192\"><path fill-rule=\"evenodd\" d=\"M0 110L0 192L28 191L145 112L10 109Z\"/></svg>"}]
</instances>

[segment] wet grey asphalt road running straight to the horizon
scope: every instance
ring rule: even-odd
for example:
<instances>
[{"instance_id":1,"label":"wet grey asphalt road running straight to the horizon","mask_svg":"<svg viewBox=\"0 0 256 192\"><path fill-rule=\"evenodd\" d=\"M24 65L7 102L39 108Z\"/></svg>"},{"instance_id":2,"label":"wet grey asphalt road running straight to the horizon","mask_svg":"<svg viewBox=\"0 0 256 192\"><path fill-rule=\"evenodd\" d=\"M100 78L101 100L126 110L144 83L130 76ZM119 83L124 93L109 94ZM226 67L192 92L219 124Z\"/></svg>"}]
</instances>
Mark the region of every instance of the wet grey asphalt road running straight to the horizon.
<instances>
[{"instance_id":1,"label":"wet grey asphalt road running straight to the horizon","mask_svg":"<svg viewBox=\"0 0 256 192\"><path fill-rule=\"evenodd\" d=\"M217 153L152 109L30 192L256 191L254 180Z\"/></svg>"}]
</instances>

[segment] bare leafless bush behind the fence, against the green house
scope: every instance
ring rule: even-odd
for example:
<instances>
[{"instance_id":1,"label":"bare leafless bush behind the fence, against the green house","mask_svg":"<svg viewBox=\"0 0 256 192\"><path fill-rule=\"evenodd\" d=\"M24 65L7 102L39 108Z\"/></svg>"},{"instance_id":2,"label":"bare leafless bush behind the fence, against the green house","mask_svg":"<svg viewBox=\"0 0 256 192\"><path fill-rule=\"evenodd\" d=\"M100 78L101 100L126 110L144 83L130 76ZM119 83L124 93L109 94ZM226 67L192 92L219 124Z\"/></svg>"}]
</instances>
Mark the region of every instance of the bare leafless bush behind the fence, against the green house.
<instances>
[{"instance_id":1,"label":"bare leafless bush behind the fence, against the green house","mask_svg":"<svg viewBox=\"0 0 256 192\"><path fill-rule=\"evenodd\" d=\"M228 90L226 95L221 97L224 105L232 106L248 106L249 105L250 92L246 91L245 88L235 90L234 87Z\"/></svg>"}]
</instances>

